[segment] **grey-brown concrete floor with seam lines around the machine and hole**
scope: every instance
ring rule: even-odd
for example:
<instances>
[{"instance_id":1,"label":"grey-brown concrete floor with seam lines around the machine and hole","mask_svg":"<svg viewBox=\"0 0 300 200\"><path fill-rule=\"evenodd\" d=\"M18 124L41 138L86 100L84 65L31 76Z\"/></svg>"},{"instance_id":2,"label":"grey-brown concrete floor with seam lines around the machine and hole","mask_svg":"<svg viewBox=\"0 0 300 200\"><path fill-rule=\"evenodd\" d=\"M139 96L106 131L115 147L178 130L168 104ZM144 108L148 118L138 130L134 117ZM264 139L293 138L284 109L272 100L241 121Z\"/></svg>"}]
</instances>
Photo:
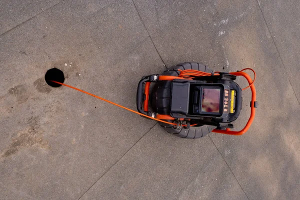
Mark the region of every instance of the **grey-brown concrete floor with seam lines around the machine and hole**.
<instances>
[{"instance_id":1,"label":"grey-brown concrete floor with seam lines around the machine and hole","mask_svg":"<svg viewBox=\"0 0 300 200\"><path fill-rule=\"evenodd\" d=\"M299 18L298 0L1 0L0 199L298 199ZM135 109L141 76L183 61L256 70L248 132L177 138L43 79Z\"/></svg>"}]
</instances>

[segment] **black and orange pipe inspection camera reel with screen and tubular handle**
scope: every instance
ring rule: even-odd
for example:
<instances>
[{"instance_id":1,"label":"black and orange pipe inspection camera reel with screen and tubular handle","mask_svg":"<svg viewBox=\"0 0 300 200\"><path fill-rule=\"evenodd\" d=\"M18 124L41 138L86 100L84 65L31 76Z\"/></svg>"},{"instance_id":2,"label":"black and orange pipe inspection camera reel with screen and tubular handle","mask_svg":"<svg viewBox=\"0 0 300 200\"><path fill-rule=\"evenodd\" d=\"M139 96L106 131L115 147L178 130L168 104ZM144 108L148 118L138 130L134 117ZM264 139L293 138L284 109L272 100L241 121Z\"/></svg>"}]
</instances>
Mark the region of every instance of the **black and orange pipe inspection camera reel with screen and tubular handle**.
<instances>
[{"instance_id":1,"label":"black and orange pipe inspection camera reel with screen and tubular handle","mask_svg":"<svg viewBox=\"0 0 300 200\"><path fill-rule=\"evenodd\" d=\"M254 79L243 72L250 69ZM243 89L234 82L243 76L249 85ZM209 132L241 135L250 127L257 107L255 72L245 68L236 72L213 72L197 62L185 62L168 68L162 74L143 76L138 83L137 110L159 121L169 133L179 137L199 138ZM152 89L150 92L150 83ZM242 108L241 91L252 92L250 117L242 130L234 131L234 121Z\"/></svg>"}]
</instances>

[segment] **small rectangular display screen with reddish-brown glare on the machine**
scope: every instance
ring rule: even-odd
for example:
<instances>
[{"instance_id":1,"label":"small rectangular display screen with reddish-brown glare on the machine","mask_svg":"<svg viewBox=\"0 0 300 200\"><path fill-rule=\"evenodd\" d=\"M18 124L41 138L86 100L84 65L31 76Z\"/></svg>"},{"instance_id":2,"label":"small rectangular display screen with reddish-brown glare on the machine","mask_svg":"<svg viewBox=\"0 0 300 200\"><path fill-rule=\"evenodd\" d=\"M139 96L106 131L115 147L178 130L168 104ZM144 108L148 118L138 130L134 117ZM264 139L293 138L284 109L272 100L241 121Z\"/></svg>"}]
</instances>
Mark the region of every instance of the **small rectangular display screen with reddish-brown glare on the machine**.
<instances>
[{"instance_id":1,"label":"small rectangular display screen with reddish-brown glare on the machine","mask_svg":"<svg viewBox=\"0 0 300 200\"><path fill-rule=\"evenodd\" d=\"M203 88L202 89L202 112L217 112L220 107L221 89Z\"/></svg>"}]
</instances>

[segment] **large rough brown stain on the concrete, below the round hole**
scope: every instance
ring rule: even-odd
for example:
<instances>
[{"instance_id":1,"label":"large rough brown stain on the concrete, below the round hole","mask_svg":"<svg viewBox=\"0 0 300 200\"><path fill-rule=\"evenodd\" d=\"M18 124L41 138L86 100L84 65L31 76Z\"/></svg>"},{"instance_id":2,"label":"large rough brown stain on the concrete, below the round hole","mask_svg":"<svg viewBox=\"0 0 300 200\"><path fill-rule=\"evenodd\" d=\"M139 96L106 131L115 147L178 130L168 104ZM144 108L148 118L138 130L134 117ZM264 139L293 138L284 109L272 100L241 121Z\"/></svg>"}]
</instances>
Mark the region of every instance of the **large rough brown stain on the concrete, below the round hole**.
<instances>
[{"instance_id":1,"label":"large rough brown stain on the concrete, below the round hole","mask_svg":"<svg viewBox=\"0 0 300 200\"><path fill-rule=\"evenodd\" d=\"M30 117L26 122L27 127L12 138L11 143L1 152L0 160L15 154L24 147L39 147L48 149L48 141L43 138L42 129L37 117Z\"/></svg>"}]
</instances>

